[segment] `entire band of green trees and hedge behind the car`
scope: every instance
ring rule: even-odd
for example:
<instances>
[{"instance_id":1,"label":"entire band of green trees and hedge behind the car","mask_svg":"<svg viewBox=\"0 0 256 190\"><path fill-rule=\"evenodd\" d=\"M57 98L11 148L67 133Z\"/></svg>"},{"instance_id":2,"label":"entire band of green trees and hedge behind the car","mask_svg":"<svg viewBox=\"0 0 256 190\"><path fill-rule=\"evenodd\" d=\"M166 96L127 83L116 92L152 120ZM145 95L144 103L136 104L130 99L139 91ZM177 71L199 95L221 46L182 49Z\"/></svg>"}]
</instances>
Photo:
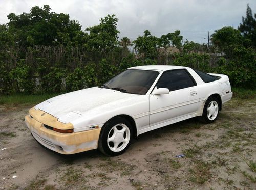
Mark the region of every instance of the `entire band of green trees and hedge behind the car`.
<instances>
[{"instance_id":1,"label":"entire band of green trees and hedge behind the car","mask_svg":"<svg viewBox=\"0 0 256 190\"><path fill-rule=\"evenodd\" d=\"M156 64L226 74L233 87L255 89L256 14L248 5L238 29L216 30L208 46L183 41L179 30L160 38L145 30L133 42L119 40L115 15L82 31L77 20L48 5L8 19L0 25L0 94L74 91L132 66ZM174 47L179 53L169 51Z\"/></svg>"}]
</instances>

